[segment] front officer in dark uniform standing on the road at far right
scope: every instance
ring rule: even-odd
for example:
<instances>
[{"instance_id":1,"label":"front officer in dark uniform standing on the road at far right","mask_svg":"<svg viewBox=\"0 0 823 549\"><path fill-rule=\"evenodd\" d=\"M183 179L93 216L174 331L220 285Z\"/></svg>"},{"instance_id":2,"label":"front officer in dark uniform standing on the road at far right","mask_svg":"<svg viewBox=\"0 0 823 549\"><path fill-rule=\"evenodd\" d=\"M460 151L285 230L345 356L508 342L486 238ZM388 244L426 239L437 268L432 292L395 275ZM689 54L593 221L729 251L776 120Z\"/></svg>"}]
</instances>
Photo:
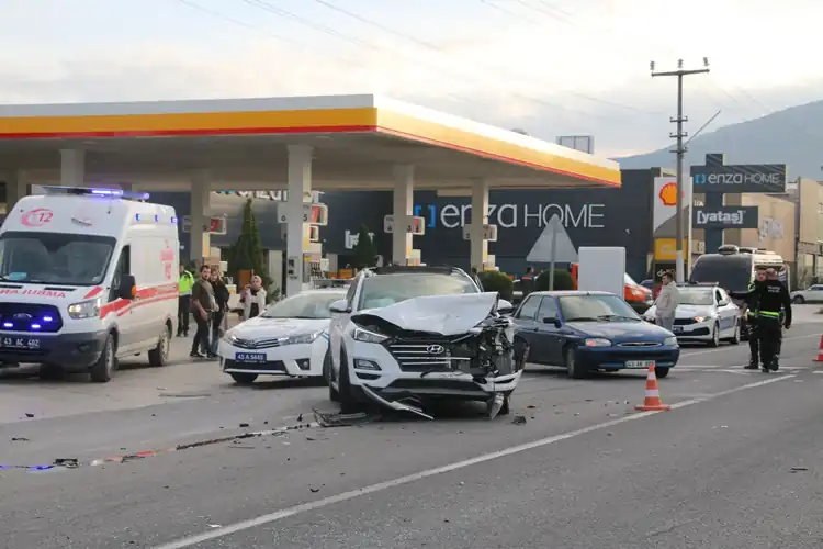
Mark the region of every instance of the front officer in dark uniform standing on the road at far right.
<instances>
[{"instance_id":1,"label":"front officer in dark uniform standing on the road at far right","mask_svg":"<svg viewBox=\"0 0 823 549\"><path fill-rule=\"evenodd\" d=\"M778 280L777 271L769 269L766 281L751 292L729 292L732 298L748 302L754 299L757 306L757 332L759 333L762 370L777 371L782 343L782 326L791 327L791 296L786 285Z\"/></svg>"}]
</instances>

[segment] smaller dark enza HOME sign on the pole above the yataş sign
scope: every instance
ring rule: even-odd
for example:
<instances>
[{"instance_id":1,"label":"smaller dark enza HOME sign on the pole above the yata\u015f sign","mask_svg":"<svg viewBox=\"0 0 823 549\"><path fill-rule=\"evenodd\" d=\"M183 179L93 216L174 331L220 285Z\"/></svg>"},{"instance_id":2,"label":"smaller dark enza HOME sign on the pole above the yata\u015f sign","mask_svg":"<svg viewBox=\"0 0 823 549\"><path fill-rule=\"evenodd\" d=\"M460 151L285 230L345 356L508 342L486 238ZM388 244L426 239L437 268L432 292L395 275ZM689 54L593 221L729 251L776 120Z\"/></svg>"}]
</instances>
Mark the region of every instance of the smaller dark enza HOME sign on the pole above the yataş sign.
<instances>
[{"instance_id":1,"label":"smaller dark enza HOME sign on the pole above the yata\u015f sign","mask_svg":"<svg viewBox=\"0 0 823 549\"><path fill-rule=\"evenodd\" d=\"M692 166L696 193L786 192L785 164Z\"/></svg>"}]
</instances>

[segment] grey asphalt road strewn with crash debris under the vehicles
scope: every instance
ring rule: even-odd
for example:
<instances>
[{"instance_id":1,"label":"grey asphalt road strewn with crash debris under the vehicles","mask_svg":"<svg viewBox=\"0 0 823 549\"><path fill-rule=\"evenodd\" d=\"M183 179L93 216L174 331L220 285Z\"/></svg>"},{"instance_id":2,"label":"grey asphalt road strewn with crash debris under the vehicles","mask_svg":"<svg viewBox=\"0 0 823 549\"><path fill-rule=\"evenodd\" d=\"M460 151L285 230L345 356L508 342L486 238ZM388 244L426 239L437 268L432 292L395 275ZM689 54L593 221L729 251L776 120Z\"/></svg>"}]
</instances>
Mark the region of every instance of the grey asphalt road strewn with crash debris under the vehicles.
<instances>
[{"instance_id":1,"label":"grey asphalt road strewn with crash debris under the vehicles","mask_svg":"<svg viewBox=\"0 0 823 549\"><path fill-rule=\"evenodd\" d=\"M522 425L466 406L311 426L325 388L238 388L185 345L105 385L7 377L0 547L816 549L822 330L788 332L778 373L742 370L745 345L685 349L659 382L670 412L633 410L643 372L530 368ZM79 466L25 469L58 458Z\"/></svg>"}]
</instances>

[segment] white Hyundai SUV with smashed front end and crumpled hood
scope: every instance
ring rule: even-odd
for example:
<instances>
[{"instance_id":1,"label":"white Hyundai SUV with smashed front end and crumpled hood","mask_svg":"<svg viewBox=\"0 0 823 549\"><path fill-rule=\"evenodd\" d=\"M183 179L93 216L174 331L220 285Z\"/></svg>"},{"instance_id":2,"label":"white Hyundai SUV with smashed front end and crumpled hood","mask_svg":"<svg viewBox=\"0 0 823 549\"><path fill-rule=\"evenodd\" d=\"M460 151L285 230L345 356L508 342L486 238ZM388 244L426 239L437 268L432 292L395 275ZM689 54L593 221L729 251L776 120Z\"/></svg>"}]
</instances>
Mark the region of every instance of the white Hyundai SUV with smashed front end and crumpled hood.
<instances>
[{"instance_id":1,"label":"white Hyundai SUV with smashed front end and crumpled hood","mask_svg":"<svg viewBox=\"0 0 823 549\"><path fill-rule=\"evenodd\" d=\"M427 401L480 401L508 412L523 357L511 304L453 267L382 267L331 304L324 376L343 413L379 403L431 419Z\"/></svg>"}]
</instances>

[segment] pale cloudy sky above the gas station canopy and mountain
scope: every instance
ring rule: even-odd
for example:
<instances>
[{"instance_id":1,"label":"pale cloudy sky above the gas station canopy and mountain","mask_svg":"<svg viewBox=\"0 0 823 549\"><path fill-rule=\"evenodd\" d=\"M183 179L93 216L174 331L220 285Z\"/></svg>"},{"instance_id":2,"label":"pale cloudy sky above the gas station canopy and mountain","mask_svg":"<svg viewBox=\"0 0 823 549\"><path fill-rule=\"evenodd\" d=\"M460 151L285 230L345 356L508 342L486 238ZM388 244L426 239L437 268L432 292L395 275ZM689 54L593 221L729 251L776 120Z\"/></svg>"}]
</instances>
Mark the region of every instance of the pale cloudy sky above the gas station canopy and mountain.
<instances>
[{"instance_id":1,"label":"pale cloudy sky above the gas station canopy and mountain","mask_svg":"<svg viewBox=\"0 0 823 549\"><path fill-rule=\"evenodd\" d=\"M823 99L814 0L0 0L0 104L379 93L598 156ZM811 59L811 60L808 60Z\"/></svg>"}]
</instances>

